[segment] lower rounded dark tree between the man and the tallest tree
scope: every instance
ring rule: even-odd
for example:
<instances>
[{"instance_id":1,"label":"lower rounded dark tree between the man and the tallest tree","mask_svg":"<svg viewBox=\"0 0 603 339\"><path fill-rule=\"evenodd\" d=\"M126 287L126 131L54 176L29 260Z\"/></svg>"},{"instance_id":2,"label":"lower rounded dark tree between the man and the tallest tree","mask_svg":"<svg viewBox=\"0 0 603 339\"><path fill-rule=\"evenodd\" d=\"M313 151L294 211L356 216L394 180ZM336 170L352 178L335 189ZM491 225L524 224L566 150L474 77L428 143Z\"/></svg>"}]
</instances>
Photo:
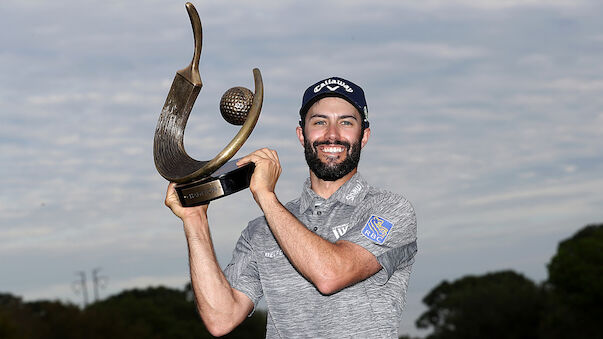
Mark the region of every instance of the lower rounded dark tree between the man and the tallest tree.
<instances>
[{"instance_id":1,"label":"lower rounded dark tree between the man and the tallest tree","mask_svg":"<svg viewBox=\"0 0 603 339\"><path fill-rule=\"evenodd\" d=\"M416 324L433 327L428 339L536 338L543 296L523 275L501 271L443 281L423 303Z\"/></svg>"}]
</instances>

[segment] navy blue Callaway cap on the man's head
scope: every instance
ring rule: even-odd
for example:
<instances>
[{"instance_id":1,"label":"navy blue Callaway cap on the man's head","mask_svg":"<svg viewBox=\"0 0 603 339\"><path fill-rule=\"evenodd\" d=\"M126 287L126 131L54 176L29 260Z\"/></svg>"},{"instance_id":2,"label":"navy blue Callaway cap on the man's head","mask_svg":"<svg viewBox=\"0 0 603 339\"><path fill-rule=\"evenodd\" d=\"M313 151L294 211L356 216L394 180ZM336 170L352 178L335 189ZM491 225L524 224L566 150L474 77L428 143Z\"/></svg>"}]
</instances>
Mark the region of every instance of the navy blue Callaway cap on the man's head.
<instances>
[{"instance_id":1,"label":"navy blue Callaway cap on the man's head","mask_svg":"<svg viewBox=\"0 0 603 339\"><path fill-rule=\"evenodd\" d=\"M299 110L299 115L301 117L300 124L303 124L310 106L326 97L339 97L345 99L356 107L362 116L363 127L367 128L369 126L368 106L366 105L366 99L364 98L364 91L355 83L339 77L330 77L321 80L306 89L302 99L302 107Z\"/></svg>"}]
</instances>

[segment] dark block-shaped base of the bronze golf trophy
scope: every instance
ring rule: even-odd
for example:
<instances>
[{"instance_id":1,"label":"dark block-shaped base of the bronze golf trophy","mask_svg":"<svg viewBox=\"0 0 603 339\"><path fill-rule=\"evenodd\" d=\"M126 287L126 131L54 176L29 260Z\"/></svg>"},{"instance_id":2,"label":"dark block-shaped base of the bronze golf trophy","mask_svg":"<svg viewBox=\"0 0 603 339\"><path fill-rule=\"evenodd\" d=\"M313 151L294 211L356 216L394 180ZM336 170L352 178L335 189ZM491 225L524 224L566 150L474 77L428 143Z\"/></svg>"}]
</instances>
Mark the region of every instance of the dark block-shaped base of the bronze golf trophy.
<instances>
[{"instance_id":1,"label":"dark block-shaped base of the bronze golf trophy","mask_svg":"<svg viewBox=\"0 0 603 339\"><path fill-rule=\"evenodd\" d=\"M251 162L237 167L236 162L227 162L209 177L177 184L176 193L182 206L204 205L249 187L255 165Z\"/></svg>"}]
</instances>

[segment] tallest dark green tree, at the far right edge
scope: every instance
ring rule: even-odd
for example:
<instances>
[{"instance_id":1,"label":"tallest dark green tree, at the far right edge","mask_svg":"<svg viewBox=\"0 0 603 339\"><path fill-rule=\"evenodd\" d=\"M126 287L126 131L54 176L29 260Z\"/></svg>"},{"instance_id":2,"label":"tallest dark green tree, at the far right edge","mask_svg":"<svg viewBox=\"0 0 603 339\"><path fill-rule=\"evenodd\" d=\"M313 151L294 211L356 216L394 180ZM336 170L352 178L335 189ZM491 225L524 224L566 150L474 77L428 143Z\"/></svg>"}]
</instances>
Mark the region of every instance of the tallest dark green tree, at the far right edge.
<instances>
[{"instance_id":1,"label":"tallest dark green tree, at the far right edge","mask_svg":"<svg viewBox=\"0 0 603 339\"><path fill-rule=\"evenodd\" d=\"M548 264L546 338L603 338L603 224L559 243Z\"/></svg>"}]
</instances>

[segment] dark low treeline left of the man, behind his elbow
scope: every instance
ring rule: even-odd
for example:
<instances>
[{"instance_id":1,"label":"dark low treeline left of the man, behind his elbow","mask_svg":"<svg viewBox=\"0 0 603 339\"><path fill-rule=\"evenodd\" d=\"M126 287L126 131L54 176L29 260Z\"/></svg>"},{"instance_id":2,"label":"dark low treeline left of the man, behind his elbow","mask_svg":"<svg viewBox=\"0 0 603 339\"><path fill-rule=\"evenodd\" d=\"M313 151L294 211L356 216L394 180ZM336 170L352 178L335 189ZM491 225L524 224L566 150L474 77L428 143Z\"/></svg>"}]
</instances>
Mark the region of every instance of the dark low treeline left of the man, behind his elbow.
<instances>
[{"instance_id":1,"label":"dark low treeline left of the man, behind his elbow","mask_svg":"<svg viewBox=\"0 0 603 339\"><path fill-rule=\"evenodd\" d=\"M256 310L223 338L263 338L266 313ZM124 291L85 309L57 301L23 302L0 294L1 339L213 338L190 291L150 287Z\"/></svg>"}]
</instances>

